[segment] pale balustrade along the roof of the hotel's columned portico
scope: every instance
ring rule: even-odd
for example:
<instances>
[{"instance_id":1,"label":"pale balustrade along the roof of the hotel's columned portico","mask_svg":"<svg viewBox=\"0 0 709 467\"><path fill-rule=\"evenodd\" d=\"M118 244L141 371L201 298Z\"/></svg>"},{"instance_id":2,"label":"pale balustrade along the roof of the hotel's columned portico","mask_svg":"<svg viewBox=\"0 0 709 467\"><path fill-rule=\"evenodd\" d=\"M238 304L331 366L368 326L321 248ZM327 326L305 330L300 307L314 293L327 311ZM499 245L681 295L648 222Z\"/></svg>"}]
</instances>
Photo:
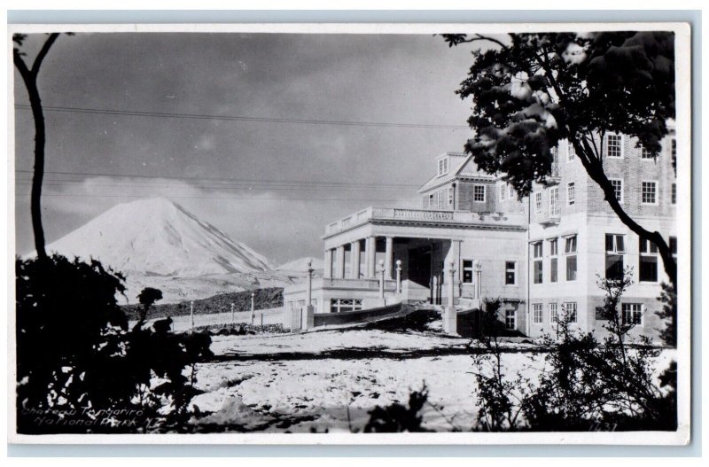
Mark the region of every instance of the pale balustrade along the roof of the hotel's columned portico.
<instances>
[{"instance_id":1,"label":"pale balustrade along the roof of the hotel's columned portico","mask_svg":"<svg viewBox=\"0 0 709 467\"><path fill-rule=\"evenodd\" d=\"M337 222L331 222L325 228L326 235L332 235L357 225L372 221L419 221L453 222L463 224L502 223L522 225L523 214L508 213L472 213L470 211L440 211L431 209L406 209L399 207L368 207L358 213L348 215Z\"/></svg>"}]
</instances>

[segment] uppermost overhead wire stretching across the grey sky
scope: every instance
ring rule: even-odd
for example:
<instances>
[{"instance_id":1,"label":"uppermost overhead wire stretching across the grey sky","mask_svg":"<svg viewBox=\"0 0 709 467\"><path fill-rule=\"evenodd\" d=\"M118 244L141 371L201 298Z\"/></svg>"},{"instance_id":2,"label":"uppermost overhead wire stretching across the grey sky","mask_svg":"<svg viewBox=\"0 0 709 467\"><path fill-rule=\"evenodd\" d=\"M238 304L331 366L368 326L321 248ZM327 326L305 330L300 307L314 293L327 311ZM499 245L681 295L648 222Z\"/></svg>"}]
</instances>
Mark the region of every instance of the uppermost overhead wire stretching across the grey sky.
<instances>
[{"instance_id":1,"label":"uppermost overhead wire stretching across the grey sky","mask_svg":"<svg viewBox=\"0 0 709 467\"><path fill-rule=\"evenodd\" d=\"M16 109L29 110L25 104L16 104ZM379 128L426 128L426 129L468 129L466 125L437 125L429 123L401 123L386 121L339 121L321 119L294 119L285 117L248 117L245 115L214 115L208 113L167 113L145 112L120 109L95 109L87 107L66 107L44 105L45 112L52 113L91 113L100 115L125 115L132 117L152 117L168 119L216 120L216 121L253 121L268 123L297 123L306 125L339 125L347 127L379 127Z\"/></svg>"}]
</instances>

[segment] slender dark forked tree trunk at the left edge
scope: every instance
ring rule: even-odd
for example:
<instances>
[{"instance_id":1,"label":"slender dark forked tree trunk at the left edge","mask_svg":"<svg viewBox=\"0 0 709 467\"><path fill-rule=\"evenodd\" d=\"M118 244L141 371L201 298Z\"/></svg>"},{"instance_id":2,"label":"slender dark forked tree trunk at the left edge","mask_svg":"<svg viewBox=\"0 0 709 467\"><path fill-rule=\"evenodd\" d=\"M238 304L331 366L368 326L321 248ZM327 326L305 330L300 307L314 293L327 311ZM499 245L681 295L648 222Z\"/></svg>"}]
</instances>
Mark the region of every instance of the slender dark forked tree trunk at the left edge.
<instances>
[{"instance_id":1,"label":"slender dark forked tree trunk at the left edge","mask_svg":"<svg viewBox=\"0 0 709 467\"><path fill-rule=\"evenodd\" d=\"M27 66L23 57L25 52L19 51L19 47L27 39L27 35L16 34L12 36L12 42L15 46L12 48L12 61L22 77L22 82L27 88L27 96L29 97L29 105L32 109L32 118L35 121L35 171L32 175L32 193L30 198L30 210L32 213L32 229L35 232L35 249L37 257L42 260L47 260L47 253L44 249L44 229L42 226L42 181L44 177L44 144L46 142L46 134L44 128L44 113L42 110L42 99L39 95L37 87L37 78L39 69L42 66L44 58L49 53L52 44L57 40L59 34L52 33L47 37L42 49L37 54L32 66Z\"/></svg>"}]
</instances>

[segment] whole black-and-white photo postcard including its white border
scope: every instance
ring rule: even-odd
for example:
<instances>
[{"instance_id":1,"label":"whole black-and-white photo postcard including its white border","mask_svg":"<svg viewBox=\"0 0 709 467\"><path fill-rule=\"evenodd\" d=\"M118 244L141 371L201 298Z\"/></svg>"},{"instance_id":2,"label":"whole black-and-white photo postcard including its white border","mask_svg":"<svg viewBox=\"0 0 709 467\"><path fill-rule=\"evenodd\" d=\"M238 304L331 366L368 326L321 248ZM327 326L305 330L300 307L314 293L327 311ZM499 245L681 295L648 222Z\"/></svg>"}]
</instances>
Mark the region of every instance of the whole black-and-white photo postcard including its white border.
<instances>
[{"instance_id":1,"label":"whole black-and-white photo postcard including its white border","mask_svg":"<svg viewBox=\"0 0 709 467\"><path fill-rule=\"evenodd\" d=\"M9 28L12 442L690 441L686 24Z\"/></svg>"}]
</instances>

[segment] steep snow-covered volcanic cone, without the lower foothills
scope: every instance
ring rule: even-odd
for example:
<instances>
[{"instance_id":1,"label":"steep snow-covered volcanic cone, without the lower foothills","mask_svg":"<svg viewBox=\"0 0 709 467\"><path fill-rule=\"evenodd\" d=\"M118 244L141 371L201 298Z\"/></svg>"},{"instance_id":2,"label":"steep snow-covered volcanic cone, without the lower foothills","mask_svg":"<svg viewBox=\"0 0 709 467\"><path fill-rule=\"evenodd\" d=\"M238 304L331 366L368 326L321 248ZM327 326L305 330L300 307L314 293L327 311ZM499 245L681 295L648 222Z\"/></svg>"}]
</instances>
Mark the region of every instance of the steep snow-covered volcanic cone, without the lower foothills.
<instances>
[{"instance_id":1,"label":"steep snow-covered volcanic cone, without the lower foothills","mask_svg":"<svg viewBox=\"0 0 709 467\"><path fill-rule=\"evenodd\" d=\"M146 276L206 276L271 269L269 261L165 198L113 206L47 246Z\"/></svg>"}]
</instances>

